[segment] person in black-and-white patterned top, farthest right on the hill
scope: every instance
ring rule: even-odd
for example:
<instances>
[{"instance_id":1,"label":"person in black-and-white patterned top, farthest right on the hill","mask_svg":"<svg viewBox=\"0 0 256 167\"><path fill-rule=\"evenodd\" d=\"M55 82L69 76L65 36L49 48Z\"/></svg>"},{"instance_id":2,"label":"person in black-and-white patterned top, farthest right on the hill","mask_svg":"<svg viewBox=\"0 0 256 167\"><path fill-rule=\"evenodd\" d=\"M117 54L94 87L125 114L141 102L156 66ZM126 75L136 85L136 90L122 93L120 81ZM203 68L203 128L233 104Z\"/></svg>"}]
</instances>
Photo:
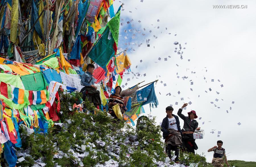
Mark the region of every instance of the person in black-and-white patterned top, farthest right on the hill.
<instances>
[{"instance_id":1,"label":"person in black-and-white patterned top, farthest right on the hill","mask_svg":"<svg viewBox=\"0 0 256 167\"><path fill-rule=\"evenodd\" d=\"M218 140L217 141L218 146L215 145L214 147L208 149L208 152L214 151L213 159L212 159L212 164L214 167L223 167L224 159L227 166L229 166L227 157L225 154L225 149L222 148L222 144L223 142L221 140Z\"/></svg>"}]
</instances>

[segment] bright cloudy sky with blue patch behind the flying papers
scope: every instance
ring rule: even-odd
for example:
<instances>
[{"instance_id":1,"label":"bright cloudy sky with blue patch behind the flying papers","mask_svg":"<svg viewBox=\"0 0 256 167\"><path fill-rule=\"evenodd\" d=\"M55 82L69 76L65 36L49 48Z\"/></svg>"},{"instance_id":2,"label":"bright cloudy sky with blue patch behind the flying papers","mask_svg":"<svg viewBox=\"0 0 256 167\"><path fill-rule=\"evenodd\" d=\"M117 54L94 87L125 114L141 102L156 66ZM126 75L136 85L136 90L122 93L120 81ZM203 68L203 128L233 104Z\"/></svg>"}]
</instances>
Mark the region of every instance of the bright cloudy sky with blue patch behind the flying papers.
<instances>
[{"instance_id":1,"label":"bright cloudy sky with blue patch behind the flying papers","mask_svg":"<svg viewBox=\"0 0 256 167\"><path fill-rule=\"evenodd\" d=\"M213 152L207 150L222 140L228 160L256 161L256 1L115 0L115 11L121 3L118 47L128 48L131 71L137 73L124 74L122 85L127 85L123 89L158 80L159 105L151 108L151 113L149 104L145 105L145 115L156 116L159 124L166 117L167 106L173 105L177 115L184 102L192 102L182 113L195 110L199 127L205 130L204 138L196 140L198 154L204 153L210 162ZM213 5L247 8L216 9ZM149 47L146 39L150 39ZM176 41L181 50L179 44L174 45ZM183 52L183 59L175 48ZM180 123L183 127L182 119Z\"/></svg>"}]
</instances>

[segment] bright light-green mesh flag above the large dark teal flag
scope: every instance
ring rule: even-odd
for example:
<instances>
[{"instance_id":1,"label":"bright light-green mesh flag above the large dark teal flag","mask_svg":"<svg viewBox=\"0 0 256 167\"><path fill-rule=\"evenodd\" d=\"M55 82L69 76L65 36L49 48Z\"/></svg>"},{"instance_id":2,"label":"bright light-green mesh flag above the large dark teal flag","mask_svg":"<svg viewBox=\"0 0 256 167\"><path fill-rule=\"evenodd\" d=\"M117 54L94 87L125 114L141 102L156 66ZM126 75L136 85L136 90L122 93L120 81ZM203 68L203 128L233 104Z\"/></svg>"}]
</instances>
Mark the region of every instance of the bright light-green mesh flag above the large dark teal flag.
<instances>
[{"instance_id":1,"label":"bright light-green mesh flag above the large dark teal flag","mask_svg":"<svg viewBox=\"0 0 256 167\"><path fill-rule=\"evenodd\" d=\"M110 31L113 35L113 38L115 40L116 46L118 44L118 37L119 37L119 24L120 24L120 10L117 12L115 17L113 17L109 22L108 26L110 28Z\"/></svg>"}]
</instances>

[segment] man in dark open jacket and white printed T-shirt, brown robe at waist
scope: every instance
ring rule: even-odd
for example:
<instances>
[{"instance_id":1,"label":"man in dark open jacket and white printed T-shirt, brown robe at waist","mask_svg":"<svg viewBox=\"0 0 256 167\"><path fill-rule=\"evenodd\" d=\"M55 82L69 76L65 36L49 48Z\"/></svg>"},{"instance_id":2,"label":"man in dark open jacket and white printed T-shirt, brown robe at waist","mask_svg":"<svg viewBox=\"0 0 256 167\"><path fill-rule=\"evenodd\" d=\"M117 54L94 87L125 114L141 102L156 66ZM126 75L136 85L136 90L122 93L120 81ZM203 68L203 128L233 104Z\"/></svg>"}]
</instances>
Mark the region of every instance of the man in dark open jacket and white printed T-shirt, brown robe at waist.
<instances>
[{"instance_id":1,"label":"man in dark open jacket and white printed T-shirt, brown robe at waist","mask_svg":"<svg viewBox=\"0 0 256 167\"><path fill-rule=\"evenodd\" d=\"M163 138L165 139L166 152L168 153L169 158L171 158L171 150L175 151L176 158L175 162L179 159L179 145L181 142L181 129L179 123L179 117L172 114L173 108L171 106L166 107L166 117L162 121L161 131L163 132ZM168 144L169 140L172 140L171 144Z\"/></svg>"}]
</instances>

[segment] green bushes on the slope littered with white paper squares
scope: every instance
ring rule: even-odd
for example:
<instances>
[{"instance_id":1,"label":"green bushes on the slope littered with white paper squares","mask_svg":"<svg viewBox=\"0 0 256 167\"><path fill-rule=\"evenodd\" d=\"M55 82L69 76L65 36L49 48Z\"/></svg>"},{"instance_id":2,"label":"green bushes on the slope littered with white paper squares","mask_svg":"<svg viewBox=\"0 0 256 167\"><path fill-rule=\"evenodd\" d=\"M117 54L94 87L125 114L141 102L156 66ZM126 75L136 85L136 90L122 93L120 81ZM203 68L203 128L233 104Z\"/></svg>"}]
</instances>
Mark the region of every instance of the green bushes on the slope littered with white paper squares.
<instances>
[{"instance_id":1,"label":"green bushes on the slope littered with white paper squares","mask_svg":"<svg viewBox=\"0 0 256 167\"><path fill-rule=\"evenodd\" d=\"M124 120L114 120L106 112L95 109L87 99L83 102L85 113L77 111L76 108L70 111L70 106L80 103L80 93L65 94L59 91L59 95L61 112L58 115L59 122L63 123L63 126L54 125L48 129L47 134L33 133L31 135L27 135L23 126L20 126L22 149L29 151L31 157L26 157L26 160L19 165L32 166L34 160L41 159L47 167L54 166L55 163L61 166L78 166L79 164L73 163L77 161L77 158L70 149L82 154L83 151L77 150L78 147L90 145L90 143L94 143L95 147L92 150L86 147L89 155L81 159L84 166L103 164L110 158L117 161L119 166L124 167L152 167L156 166L154 159L165 161L167 155L164 152L164 143L161 141L162 132L160 126L156 125L155 118L142 117L141 124L135 129ZM87 114L87 111L95 111L95 114ZM106 144L97 145L97 140ZM67 156L53 158L59 151ZM109 152L113 154L109 155ZM93 159L92 156L98 157ZM205 164L205 157L189 154L187 155L189 159L185 159L185 156L185 153L181 153L180 157L184 164L190 162L199 163L199 166Z\"/></svg>"}]
</instances>

